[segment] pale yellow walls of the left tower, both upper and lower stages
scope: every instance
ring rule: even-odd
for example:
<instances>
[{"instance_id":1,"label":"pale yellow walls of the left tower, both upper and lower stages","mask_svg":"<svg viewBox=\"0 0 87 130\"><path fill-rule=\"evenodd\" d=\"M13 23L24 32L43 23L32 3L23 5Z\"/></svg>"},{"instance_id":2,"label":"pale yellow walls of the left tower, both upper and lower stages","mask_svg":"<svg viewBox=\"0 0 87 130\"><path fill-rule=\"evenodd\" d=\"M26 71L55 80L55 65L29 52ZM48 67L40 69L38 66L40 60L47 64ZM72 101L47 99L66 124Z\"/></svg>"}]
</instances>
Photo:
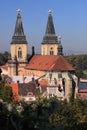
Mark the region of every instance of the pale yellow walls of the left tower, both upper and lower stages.
<instances>
[{"instance_id":1,"label":"pale yellow walls of the left tower, both upper and lower stages","mask_svg":"<svg viewBox=\"0 0 87 130\"><path fill-rule=\"evenodd\" d=\"M18 50L21 48L22 51L22 58L18 58ZM11 61L8 66L8 75L13 76L16 75L16 63L12 63L14 61L14 58L16 56L18 64L18 75L24 75L24 67L26 66L27 61L27 52L28 52L28 46L27 44L11 44L10 46L11 51ZM24 62L24 63L22 63Z\"/></svg>"}]
</instances>

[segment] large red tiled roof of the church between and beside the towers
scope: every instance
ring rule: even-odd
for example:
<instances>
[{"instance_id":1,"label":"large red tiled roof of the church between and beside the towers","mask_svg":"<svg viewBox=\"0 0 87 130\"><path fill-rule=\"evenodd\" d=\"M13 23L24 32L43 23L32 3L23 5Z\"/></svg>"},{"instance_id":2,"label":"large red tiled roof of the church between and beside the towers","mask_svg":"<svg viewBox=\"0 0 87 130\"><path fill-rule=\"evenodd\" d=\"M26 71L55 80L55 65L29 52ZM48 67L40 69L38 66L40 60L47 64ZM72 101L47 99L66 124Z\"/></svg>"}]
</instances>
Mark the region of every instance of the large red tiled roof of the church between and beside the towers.
<instances>
[{"instance_id":1,"label":"large red tiled roof of the church between and beside the towers","mask_svg":"<svg viewBox=\"0 0 87 130\"><path fill-rule=\"evenodd\" d=\"M26 69L73 71L75 70L63 56L34 55Z\"/></svg>"}]
</instances>

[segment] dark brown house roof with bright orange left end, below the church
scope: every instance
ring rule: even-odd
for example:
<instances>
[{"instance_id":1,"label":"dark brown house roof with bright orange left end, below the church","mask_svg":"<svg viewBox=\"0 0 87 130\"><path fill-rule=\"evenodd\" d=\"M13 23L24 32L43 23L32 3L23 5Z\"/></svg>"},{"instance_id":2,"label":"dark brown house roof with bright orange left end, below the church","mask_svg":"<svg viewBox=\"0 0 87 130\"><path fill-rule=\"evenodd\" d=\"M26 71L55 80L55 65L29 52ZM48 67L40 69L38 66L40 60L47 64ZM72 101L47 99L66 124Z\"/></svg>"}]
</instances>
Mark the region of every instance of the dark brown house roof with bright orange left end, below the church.
<instances>
[{"instance_id":1,"label":"dark brown house roof with bright orange left end, below the church","mask_svg":"<svg viewBox=\"0 0 87 130\"><path fill-rule=\"evenodd\" d=\"M28 93L36 94L39 92L39 88L35 83L12 83L6 84L6 87L10 86L12 88L14 102L19 100L19 96L27 96Z\"/></svg>"}]
</instances>

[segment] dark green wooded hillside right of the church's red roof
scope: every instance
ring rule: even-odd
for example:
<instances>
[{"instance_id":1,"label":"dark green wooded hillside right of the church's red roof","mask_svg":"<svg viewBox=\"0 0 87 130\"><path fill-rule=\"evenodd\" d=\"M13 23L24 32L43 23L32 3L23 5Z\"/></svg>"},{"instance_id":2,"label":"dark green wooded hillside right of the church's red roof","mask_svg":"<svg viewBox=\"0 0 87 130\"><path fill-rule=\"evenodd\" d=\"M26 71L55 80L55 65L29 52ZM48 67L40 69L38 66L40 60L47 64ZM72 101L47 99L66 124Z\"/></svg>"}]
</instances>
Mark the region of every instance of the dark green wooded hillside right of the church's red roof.
<instances>
[{"instance_id":1,"label":"dark green wooded hillside right of the church's red roof","mask_svg":"<svg viewBox=\"0 0 87 130\"><path fill-rule=\"evenodd\" d=\"M79 78L87 78L87 54L67 55L65 58L76 69Z\"/></svg>"}]
</instances>

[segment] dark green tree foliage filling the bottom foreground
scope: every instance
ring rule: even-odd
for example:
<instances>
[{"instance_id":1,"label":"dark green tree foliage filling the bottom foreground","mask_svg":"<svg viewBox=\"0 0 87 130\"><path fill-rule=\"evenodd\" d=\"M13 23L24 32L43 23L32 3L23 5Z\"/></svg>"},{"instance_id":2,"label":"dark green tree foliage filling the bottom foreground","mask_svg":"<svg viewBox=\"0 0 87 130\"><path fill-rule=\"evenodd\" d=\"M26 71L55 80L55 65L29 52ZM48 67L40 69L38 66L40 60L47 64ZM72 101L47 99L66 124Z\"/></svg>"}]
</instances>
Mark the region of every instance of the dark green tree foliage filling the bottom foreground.
<instances>
[{"instance_id":1,"label":"dark green tree foliage filling the bottom foreground","mask_svg":"<svg viewBox=\"0 0 87 130\"><path fill-rule=\"evenodd\" d=\"M18 111L18 108L22 108ZM4 107L4 109L3 109ZM1 107L0 107L1 108ZM26 104L19 103L11 111L2 106L0 129L5 130L86 130L87 101L74 100L67 103L56 97L49 99L39 97ZM4 114L4 118L2 118ZM8 119L8 120L7 120ZM7 122L7 123L6 123ZM7 129L6 129L7 130Z\"/></svg>"}]
</instances>

